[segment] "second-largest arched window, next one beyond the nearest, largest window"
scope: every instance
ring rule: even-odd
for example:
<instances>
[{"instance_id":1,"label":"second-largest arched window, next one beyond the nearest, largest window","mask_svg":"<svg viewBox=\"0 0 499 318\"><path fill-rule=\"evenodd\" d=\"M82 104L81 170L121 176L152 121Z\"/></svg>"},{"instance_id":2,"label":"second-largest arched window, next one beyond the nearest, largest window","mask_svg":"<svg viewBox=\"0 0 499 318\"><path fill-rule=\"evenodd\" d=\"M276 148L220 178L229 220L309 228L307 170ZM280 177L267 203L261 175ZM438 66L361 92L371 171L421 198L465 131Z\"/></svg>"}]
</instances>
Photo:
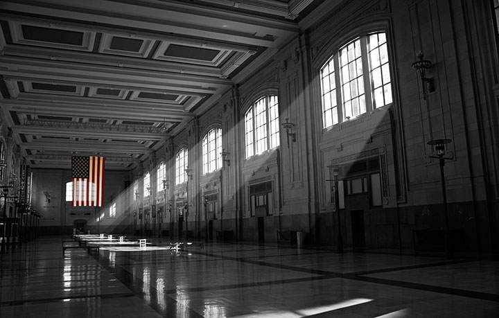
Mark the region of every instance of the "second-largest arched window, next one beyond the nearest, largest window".
<instances>
[{"instance_id":1,"label":"second-largest arched window, next one beyond the nearest, largest window","mask_svg":"<svg viewBox=\"0 0 499 318\"><path fill-rule=\"evenodd\" d=\"M245 114L246 158L279 146L279 103L277 96L264 96Z\"/></svg>"}]
</instances>

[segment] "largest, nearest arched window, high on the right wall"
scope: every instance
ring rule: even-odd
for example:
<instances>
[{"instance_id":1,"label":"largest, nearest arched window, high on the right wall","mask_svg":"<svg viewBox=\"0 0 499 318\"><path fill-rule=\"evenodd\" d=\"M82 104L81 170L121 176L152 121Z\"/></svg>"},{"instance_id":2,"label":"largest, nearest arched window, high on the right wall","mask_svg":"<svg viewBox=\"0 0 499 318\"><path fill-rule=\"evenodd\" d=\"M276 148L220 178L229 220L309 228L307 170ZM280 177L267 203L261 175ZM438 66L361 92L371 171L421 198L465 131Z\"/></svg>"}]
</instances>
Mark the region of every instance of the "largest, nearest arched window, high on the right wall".
<instances>
[{"instance_id":1,"label":"largest, nearest arched window, high on the right wall","mask_svg":"<svg viewBox=\"0 0 499 318\"><path fill-rule=\"evenodd\" d=\"M354 39L320 73L324 128L393 101L385 33Z\"/></svg>"}]
</instances>

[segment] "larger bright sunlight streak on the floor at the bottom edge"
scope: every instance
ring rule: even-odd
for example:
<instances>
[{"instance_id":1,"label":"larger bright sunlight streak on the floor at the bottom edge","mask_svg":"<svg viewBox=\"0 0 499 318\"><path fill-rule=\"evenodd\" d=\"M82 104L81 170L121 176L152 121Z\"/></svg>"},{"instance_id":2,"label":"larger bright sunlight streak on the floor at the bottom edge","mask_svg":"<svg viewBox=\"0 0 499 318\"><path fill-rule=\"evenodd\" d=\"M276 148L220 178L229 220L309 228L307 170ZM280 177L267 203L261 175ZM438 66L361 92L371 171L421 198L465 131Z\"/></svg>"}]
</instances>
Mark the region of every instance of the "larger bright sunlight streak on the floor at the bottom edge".
<instances>
[{"instance_id":1,"label":"larger bright sunlight streak on the floor at the bottom edge","mask_svg":"<svg viewBox=\"0 0 499 318\"><path fill-rule=\"evenodd\" d=\"M369 301L373 301L373 299L367 299L367 298L356 298L356 299L349 299L347 301L342 301L340 303L333 303L328 306L317 306L313 308L305 308L305 309L299 309L299 310L282 310L282 311L272 311L272 312L258 312L258 313L252 313L249 315L243 315L243 316L237 316L233 318L249 318L249 317L259 317L259 318L264 318L264 317L272 317L272 318L279 318L279 317L286 317L286 318L298 318L298 317L306 317L306 316L311 316L311 315L319 315L322 314L323 312L330 312L333 310L338 310L341 308L347 308L351 306L356 306L360 305L361 303L368 303ZM389 317L389 316L387 316ZM394 316L396 317L396 316Z\"/></svg>"}]
</instances>

